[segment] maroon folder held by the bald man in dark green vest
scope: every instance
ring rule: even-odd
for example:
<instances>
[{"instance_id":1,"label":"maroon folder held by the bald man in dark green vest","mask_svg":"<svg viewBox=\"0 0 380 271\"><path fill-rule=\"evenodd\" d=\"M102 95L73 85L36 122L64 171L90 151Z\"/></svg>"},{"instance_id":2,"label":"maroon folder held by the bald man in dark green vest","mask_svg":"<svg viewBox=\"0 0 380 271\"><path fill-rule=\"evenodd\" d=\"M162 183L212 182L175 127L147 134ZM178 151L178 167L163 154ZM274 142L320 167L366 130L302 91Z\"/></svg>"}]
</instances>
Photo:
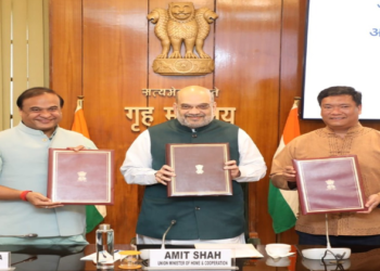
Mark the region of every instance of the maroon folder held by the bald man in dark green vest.
<instances>
[{"instance_id":1,"label":"maroon folder held by the bald man in dark green vest","mask_svg":"<svg viewBox=\"0 0 380 271\"><path fill-rule=\"evenodd\" d=\"M228 143L166 144L166 164L176 173L167 196L232 195Z\"/></svg>"}]
</instances>

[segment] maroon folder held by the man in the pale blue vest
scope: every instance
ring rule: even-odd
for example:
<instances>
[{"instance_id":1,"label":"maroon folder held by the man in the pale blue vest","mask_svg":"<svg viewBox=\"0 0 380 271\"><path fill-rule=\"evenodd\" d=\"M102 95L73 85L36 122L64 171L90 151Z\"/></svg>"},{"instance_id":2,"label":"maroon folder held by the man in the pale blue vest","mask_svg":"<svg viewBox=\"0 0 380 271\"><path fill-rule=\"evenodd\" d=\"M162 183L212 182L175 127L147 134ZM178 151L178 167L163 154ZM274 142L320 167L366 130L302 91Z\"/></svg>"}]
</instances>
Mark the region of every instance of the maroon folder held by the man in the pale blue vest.
<instances>
[{"instance_id":1,"label":"maroon folder held by the man in the pale blue vest","mask_svg":"<svg viewBox=\"0 0 380 271\"><path fill-rule=\"evenodd\" d=\"M114 151L49 149L48 197L76 205L113 205Z\"/></svg>"}]
</instances>

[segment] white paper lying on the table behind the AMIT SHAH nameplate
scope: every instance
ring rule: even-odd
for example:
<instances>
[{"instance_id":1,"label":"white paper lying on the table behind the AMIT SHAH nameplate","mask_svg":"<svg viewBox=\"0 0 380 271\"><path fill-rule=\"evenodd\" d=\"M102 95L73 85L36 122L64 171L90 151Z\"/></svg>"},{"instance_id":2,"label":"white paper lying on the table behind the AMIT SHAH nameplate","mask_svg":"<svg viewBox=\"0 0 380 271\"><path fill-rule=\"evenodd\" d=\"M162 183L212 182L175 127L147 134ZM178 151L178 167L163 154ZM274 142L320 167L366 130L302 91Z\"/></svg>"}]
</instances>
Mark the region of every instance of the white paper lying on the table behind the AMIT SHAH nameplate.
<instances>
[{"instance_id":1,"label":"white paper lying on the table behind the AMIT SHAH nameplate","mask_svg":"<svg viewBox=\"0 0 380 271\"><path fill-rule=\"evenodd\" d=\"M235 258L263 258L252 244L194 244L197 249L231 249Z\"/></svg>"}]
</instances>

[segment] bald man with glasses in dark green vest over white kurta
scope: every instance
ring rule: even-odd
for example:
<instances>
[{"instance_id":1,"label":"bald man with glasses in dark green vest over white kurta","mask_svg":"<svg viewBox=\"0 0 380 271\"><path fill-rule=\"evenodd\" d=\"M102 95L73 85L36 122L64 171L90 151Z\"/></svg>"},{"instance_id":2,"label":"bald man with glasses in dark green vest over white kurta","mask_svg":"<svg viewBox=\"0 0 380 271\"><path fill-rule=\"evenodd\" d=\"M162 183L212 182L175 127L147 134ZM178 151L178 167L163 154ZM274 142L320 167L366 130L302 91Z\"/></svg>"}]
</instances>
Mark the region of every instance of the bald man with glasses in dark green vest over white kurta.
<instances>
[{"instance_id":1,"label":"bald man with glasses in dark green vest over white kurta","mask_svg":"<svg viewBox=\"0 0 380 271\"><path fill-rule=\"evenodd\" d=\"M266 166L252 139L239 127L214 119L216 103L211 91L191 86L177 92L176 119L143 131L127 151L121 168L127 183L145 185L137 224L138 244L245 243L244 198L238 182L258 181ZM175 176L165 165L167 143L229 142L231 160L224 169L232 177L232 196L167 197L166 185Z\"/></svg>"}]
</instances>

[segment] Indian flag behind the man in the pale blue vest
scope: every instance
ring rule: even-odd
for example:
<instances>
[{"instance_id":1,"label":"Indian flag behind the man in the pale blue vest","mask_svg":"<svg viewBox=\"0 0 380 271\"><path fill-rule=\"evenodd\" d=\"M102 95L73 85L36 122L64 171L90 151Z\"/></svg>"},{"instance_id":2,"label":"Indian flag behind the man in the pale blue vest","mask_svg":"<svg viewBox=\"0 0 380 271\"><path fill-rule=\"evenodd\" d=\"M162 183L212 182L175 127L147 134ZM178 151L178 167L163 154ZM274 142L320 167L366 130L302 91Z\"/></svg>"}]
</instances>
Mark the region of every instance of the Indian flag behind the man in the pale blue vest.
<instances>
[{"instance_id":1,"label":"Indian flag behind the man in the pale blue vest","mask_svg":"<svg viewBox=\"0 0 380 271\"><path fill-rule=\"evenodd\" d=\"M77 107L74 115L73 131L80 132L86 138L90 139L87 129L85 114L83 109L83 100L78 99ZM106 209L103 205L87 205L86 206L86 232L91 232L100 222L104 220Z\"/></svg>"}]
</instances>

